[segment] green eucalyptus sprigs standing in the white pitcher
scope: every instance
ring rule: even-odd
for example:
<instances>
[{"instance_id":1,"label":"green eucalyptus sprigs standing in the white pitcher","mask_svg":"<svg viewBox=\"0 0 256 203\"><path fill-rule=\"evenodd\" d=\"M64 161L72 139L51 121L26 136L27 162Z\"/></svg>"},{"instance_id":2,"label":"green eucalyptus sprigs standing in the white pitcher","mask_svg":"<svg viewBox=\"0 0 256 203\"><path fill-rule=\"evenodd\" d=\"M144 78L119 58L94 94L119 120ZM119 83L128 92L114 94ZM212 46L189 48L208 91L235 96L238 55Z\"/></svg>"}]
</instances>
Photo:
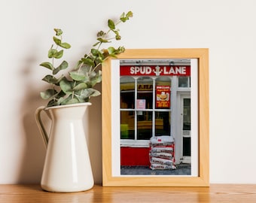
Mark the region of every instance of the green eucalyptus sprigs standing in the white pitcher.
<instances>
[{"instance_id":1,"label":"green eucalyptus sprigs standing in the white pitcher","mask_svg":"<svg viewBox=\"0 0 256 203\"><path fill-rule=\"evenodd\" d=\"M133 17L133 12L121 14L119 21L108 20L108 32L99 31L96 35L96 43L93 44L90 53L82 57L77 65L72 68L65 76L61 74L59 77L56 75L60 71L66 70L69 63L63 60L59 65L55 65L57 59L61 59L64 50L71 48L71 45L62 41L62 30L54 29L55 36L53 36L54 44L48 50L48 58L51 62L42 62L40 65L51 71L51 74L44 76L42 80L49 83L51 89L41 92L41 98L49 100L47 106L56 105L69 105L75 103L89 102L90 97L100 95L100 92L93 89L96 83L102 81L102 71L99 66L102 65L108 57L117 57L118 54L125 51L124 47L108 47L101 49L102 44L111 43L111 40L119 41L121 39L117 25L125 23ZM114 36L110 36L114 35Z\"/></svg>"}]
</instances>

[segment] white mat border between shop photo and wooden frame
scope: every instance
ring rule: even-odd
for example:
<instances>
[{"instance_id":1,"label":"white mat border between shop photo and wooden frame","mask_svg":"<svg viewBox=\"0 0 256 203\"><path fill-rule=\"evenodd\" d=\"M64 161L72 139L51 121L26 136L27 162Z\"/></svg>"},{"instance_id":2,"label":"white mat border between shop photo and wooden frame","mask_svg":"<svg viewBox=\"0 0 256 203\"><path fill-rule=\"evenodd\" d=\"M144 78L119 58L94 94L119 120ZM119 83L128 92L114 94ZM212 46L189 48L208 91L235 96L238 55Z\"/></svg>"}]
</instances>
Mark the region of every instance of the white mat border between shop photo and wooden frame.
<instances>
[{"instance_id":1,"label":"white mat border between shop photo and wooden frame","mask_svg":"<svg viewBox=\"0 0 256 203\"><path fill-rule=\"evenodd\" d=\"M191 175L163 175L198 177L198 59L190 59L191 97ZM111 59L111 168L113 177L160 177L162 175L120 174L120 59Z\"/></svg>"}]
</instances>

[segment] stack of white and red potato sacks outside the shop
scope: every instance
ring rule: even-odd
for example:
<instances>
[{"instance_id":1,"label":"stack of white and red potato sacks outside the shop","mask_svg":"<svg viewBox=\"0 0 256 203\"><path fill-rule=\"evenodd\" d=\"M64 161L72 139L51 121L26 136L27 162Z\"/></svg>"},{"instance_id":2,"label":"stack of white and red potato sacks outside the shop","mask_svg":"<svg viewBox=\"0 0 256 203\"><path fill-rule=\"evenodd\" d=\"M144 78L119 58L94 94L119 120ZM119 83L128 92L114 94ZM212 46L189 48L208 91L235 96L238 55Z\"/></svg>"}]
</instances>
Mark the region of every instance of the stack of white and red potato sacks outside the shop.
<instances>
[{"instance_id":1,"label":"stack of white and red potato sacks outside the shop","mask_svg":"<svg viewBox=\"0 0 256 203\"><path fill-rule=\"evenodd\" d=\"M152 170L176 169L174 139L172 136L155 136L150 139L150 168Z\"/></svg>"}]
</instances>

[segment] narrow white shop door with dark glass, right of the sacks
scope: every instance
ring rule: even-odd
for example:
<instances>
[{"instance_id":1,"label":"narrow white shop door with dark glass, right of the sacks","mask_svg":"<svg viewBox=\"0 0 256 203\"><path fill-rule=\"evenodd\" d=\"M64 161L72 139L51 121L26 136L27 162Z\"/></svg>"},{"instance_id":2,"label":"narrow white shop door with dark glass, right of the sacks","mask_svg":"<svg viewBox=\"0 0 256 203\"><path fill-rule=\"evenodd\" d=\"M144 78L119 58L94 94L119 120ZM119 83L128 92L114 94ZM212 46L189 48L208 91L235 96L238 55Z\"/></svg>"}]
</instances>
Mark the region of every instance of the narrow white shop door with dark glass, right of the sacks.
<instances>
[{"instance_id":1,"label":"narrow white shop door with dark glass, right of the sacks","mask_svg":"<svg viewBox=\"0 0 256 203\"><path fill-rule=\"evenodd\" d=\"M181 146L183 163L191 162L190 95L181 96Z\"/></svg>"}]
</instances>

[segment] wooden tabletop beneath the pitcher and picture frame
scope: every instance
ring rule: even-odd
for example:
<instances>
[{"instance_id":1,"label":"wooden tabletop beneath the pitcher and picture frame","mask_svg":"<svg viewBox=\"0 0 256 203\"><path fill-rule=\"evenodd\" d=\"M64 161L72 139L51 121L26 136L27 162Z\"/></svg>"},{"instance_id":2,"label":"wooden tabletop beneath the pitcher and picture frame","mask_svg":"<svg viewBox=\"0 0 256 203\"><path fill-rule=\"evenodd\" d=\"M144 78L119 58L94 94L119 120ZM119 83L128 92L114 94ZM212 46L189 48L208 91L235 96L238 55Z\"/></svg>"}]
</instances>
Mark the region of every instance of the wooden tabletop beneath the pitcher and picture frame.
<instances>
[{"instance_id":1,"label":"wooden tabletop beneath the pitcher and picture frame","mask_svg":"<svg viewBox=\"0 0 256 203\"><path fill-rule=\"evenodd\" d=\"M44 192L39 185L0 185L0 202L256 202L256 185L210 187L102 187L86 192Z\"/></svg>"}]
</instances>

